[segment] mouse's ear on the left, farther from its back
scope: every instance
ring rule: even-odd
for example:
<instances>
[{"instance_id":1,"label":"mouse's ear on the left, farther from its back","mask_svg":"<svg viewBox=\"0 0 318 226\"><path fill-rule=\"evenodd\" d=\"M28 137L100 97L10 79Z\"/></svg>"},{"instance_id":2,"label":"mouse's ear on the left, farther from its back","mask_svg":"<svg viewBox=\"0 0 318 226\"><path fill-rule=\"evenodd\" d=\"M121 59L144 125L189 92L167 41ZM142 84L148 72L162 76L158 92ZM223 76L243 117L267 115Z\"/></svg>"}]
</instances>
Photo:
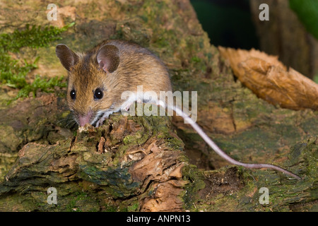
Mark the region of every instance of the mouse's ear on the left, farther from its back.
<instances>
[{"instance_id":1,"label":"mouse's ear on the left, farther from its back","mask_svg":"<svg viewBox=\"0 0 318 226\"><path fill-rule=\"evenodd\" d=\"M78 62L78 55L71 51L66 44L58 44L55 48L55 52L57 53L57 57L59 57L61 64L67 71L70 71L71 67Z\"/></svg>"}]
</instances>

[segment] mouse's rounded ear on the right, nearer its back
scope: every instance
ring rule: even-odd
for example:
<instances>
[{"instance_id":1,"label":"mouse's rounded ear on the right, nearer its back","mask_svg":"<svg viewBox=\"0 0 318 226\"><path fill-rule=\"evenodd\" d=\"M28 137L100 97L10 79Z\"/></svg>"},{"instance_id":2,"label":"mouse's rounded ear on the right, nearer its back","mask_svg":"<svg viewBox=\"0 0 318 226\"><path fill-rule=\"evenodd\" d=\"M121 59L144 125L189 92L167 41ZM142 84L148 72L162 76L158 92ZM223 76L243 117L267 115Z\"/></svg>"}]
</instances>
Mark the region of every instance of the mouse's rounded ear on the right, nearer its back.
<instances>
[{"instance_id":1,"label":"mouse's rounded ear on the right, nearer its back","mask_svg":"<svg viewBox=\"0 0 318 226\"><path fill-rule=\"evenodd\" d=\"M98 50L96 59L101 69L112 73L119 65L119 49L112 44L105 44Z\"/></svg>"}]
</instances>

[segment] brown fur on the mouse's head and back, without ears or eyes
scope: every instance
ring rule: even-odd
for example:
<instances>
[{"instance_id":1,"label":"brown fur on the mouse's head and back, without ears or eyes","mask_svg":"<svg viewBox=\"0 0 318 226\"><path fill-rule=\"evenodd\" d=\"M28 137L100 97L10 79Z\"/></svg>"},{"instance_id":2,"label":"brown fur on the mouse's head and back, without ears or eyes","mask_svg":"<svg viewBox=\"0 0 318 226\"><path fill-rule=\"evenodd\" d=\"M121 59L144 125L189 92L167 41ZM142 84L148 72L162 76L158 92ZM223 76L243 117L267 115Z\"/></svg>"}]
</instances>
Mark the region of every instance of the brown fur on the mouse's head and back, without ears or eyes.
<instances>
[{"instance_id":1,"label":"brown fur on the mouse's head and back, without ears or eyes","mask_svg":"<svg viewBox=\"0 0 318 226\"><path fill-rule=\"evenodd\" d=\"M96 59L98 50L105 44L112 44L119 49L119 65L112 73L100 69ZM69 62L64 52L58 54L57 51L63 65ZM116 109L124 102L121 100L122 92L136 92L137 85L143 85L143 92L155 91L158 97L160 91L172 90L170 76L163 62L148 49L137 44L106 40L90 51L76 56L76 64L69 69L67 102L77 120L78 116L86 116L89 112L90 118L94 119L100 110ZM104 92L101 100L94 100L94 90L97 88ZM69 95L73 89L76 90L76 100L72 100Z\"/></svg>"}]
</instances>

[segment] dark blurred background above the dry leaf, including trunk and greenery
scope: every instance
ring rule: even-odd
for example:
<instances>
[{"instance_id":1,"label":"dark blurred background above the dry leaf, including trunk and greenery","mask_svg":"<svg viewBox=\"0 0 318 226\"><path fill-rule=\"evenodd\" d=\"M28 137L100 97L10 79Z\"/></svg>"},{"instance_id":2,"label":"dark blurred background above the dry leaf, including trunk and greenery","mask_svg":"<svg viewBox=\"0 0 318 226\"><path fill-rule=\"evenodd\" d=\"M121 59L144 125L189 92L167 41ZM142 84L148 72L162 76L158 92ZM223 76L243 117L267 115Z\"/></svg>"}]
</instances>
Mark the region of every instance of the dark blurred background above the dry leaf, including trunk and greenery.
<instances>
[{"instance_id":1,"label":"dark blurred background above the dry leaf, including trunk and greenery","mask_svg":"<svg viewBox=\"0 0 318 226\"><path fill-rule=\"evenodd\" d=\"M318 83L318 0L190 2L214 46L259 49ZM269 4L269 21L258 20L262 3Z\"/></svg>"}]
</instances>

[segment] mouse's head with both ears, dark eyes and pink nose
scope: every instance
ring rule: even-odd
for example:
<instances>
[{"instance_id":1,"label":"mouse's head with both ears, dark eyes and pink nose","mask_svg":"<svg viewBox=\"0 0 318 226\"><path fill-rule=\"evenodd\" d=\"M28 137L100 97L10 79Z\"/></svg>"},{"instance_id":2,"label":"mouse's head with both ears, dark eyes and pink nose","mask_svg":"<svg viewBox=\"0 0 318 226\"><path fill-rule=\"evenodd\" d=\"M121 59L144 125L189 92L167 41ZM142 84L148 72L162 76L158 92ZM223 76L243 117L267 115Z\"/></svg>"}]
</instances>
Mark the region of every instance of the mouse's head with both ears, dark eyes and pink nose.
<instances>
[{"instance_id":1,"label":"mouse's head with both ears, dark eyes and pink nose","mask_svg":"<svg viewBox=\"0 0 318 226\"><path fill-rule=\"evenodd\" d=\"M56 53L69 74L67 103L74 119L80 126L95 124L115 104L119 49L105 44L97 51L76 54L58 44Z\"/></svg>"}]
</instances>

